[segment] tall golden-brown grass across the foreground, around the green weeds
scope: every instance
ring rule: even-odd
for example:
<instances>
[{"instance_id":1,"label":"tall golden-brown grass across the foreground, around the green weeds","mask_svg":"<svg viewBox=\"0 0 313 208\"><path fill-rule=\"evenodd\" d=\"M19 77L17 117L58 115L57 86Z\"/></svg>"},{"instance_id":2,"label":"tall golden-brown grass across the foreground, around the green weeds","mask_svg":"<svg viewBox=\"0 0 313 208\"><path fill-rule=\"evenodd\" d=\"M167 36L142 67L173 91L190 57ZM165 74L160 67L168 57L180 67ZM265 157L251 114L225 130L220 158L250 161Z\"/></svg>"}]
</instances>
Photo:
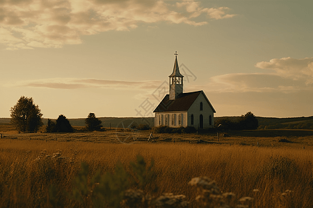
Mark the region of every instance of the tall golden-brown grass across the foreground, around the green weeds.
<instances>
[{"instance_id":1,"label":"tall golden-brown grass across the foreground, around the green weeds","mask_svg":"<svg viewBox=\"0 0 313 208\"><path fill-rule=\"evenodd\" d=\"M239 199L255 198L253 207L312 207L312 150L199 144L95 144L59 141L0 141L0 207L91 207L73 199L81 162L88 180L113 172L120 161L131 174L131 162L154 159L156 178L147 193L184 194L191 207L197 191L193 177L216 180L220 190ZM49 155L48 157L46 155ZM98 172L97 172L98 171ZM153 184L152 184L153 183ZM156 187L158 189L156 189ZM258 189L259 191L253 191ZM287 201L285 191L291 190Z\"/></svg>"}]
</instances>

